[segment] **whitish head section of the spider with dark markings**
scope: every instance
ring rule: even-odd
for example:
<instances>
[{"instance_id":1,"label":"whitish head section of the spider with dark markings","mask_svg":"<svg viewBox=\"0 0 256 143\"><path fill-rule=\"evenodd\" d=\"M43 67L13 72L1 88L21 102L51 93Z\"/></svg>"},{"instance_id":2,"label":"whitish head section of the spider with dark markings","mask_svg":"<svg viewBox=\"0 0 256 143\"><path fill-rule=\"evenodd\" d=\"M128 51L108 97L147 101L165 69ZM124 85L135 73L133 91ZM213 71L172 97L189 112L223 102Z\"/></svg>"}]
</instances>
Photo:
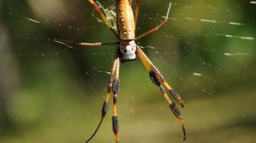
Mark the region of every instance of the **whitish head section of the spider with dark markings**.
<instances>
[{"instance_id":1,"label":"whitish head section of the spider with dark markings","mask_svg":"<svg viewBox=\"0 0 256 143\"><path fill-rule=\"evenodd\" d=\"M133 61L136 58L136 44L134 40L122 41L119 45L122 63L126 61Z\"/></svg>"}]
</instances>

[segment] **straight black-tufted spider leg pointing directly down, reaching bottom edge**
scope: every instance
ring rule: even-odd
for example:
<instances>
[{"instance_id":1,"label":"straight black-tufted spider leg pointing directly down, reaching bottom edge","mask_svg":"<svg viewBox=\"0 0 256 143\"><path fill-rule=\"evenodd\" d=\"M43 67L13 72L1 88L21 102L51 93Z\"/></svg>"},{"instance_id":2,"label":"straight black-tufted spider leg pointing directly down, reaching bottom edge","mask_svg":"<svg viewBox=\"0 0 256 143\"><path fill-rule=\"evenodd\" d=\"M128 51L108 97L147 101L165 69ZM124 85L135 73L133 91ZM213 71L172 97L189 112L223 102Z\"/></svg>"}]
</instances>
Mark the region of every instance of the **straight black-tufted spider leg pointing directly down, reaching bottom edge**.
<instances>
[{"instance_id":1,"label":"straight black-tufted spider leg pointing directly down, reaching bottom edge","mask_svg":"<svg viewBox=\"0 0 256 143\"><path fill-rule=\"evenodd\" d=\"M118 129L119 129L119 123L118 123L118 116L117 116L117 93L119 91L120 87L120 80L119 80L119 69L120 69L120 59L117 58L116 62L116 73L112 85L112 92L113 92L113 112L114 116L112 116L112 126L113 126L113 132L115 135L116 143L118 143Z\"/></svg>"}]
</instances>

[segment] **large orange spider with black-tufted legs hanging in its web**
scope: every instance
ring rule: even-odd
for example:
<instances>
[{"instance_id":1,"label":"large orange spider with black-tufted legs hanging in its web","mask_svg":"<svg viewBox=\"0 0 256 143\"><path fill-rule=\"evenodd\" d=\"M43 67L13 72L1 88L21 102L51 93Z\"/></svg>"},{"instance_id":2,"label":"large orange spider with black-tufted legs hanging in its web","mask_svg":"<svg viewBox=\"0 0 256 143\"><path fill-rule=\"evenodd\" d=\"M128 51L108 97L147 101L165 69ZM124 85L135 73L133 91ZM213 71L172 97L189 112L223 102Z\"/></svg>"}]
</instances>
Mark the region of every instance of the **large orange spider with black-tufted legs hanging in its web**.
<instances>
[{"instance_id":1,"label":"large orange spider with black-tufted legs hanging in its web","mask_svg":"<svg viewBox=\"0 0 256 143\"><path fill-rule=\"evenodd\" d=\"M111 32L114 33L117 39L119 39L118 42L112 42L112 43L85 43L80 42L78 45L80 46L91 46L91 47L98 47L102 45L118 45L116 49L116 55L114 57L114 63L112 66L111 74L109 76L109 82L107 86L107 93L105 95L105 100L103 102L103 108L102 108L102 116L101 120L97 126L97 129L95 132L91 135L91 137L86 140L85 142L89 142L94 135L97 133L98 128L101 126L103 122L104 116L106 116L108 107L109 107L109 96L110 92L113 92L113 111L114 116L112 117L112 126L113 126L113 132L115 135L116 143L118 142L118 129L119 129L119 123L118 123L118 117L117 117L117 93L120 86L120 80L119 80L119 69L120 69L120 63L125 63L127 61L133 61L136 59L136 56L140 58L140 61L143 63L145 68L147 69L147 72L149 74L150 80L152 80L153 84L158 86L159 91L164 96L165 100L167 101L170 109L172 110L173 114L178 118L184 133L184 140L186 139L186 132L184 127L184 117L181 115L180 111L178 110L178 107L175 103L172 102L171 98L167 95L165 92L165 88L170 92L173 98L178 100L178 103L181 104L182 107L184 107L183 99L180 98L178 95L178 92L175 92L171 86L164 80L164 77L162 74L160 74L159 70L153 65L153 63L149 60L149 58L146 56L146 54L140 49L138 45L136 45L135 41L137 39L143 38L147 36L148 34L156 32L159 27L162 27L165 22L168 20L169 12L171 9L172 3L169 3L169 7L167 9L166 16L163 21L160 21L159 25L156 27L153 27L151 30L147 31L146 33L141 34L140 36L135 37L135 25L138 20L138 14L140 9L140 2L141 0L136 0L135 3L135 15L132 9L132 0L116 0L116 24L117 24L117 30L115 30L113 27L111 27L110 22L107 20L105 15L103 14L102 9L97 6L97 3L94 0L89 0L93 8L97 11L97 13L101 16L103 22L106 24L107 27L110 28ZM56 42L60 44L65 44L59 40L56 40ZM66 45L66 44L65 44Z\"/></svg>"}]
</instances>

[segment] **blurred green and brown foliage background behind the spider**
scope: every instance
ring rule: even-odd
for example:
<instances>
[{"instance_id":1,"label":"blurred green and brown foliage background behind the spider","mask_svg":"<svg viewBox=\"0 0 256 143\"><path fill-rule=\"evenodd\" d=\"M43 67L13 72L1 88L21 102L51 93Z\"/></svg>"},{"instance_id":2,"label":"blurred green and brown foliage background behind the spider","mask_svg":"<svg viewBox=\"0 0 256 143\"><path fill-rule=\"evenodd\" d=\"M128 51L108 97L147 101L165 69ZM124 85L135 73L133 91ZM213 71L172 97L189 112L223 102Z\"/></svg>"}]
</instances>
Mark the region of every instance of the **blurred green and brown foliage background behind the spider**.
<instances>
[{"instance_id":1,"label":"blurred green and brown foliage background behind the spider","mask_svg":"<svg viewBox=\"0 0 256 143\"><path fill-rule=\"evenodd\" d=\"M170 21L138 44L184 98L185 142L255 142L256 42L242 37L256 37L256 5L171 2ZM161 21L168 3L142 1L137 35ZM90 137L116 46L67 48L53 39L116 41L97 18L82 0L0 1L1 143L78 143ZM121 65L118 114L120 142L183 142L178 120L139 60ZM111 116L109 104L92 142L114 142Z\"/></svg>"}]
</instances>

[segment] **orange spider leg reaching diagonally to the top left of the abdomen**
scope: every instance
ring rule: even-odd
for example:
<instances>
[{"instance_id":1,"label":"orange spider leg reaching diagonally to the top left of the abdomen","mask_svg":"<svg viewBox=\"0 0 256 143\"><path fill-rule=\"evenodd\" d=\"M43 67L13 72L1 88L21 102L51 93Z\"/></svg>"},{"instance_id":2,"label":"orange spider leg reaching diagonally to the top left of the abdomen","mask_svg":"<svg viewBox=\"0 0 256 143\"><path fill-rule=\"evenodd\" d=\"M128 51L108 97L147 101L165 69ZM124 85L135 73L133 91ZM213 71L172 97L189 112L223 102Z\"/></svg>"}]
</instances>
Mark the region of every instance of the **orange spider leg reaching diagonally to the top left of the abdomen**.
<instances>
[{"instance_id":1,"label":"orange spider leg reaching diagonally to the top left of the abdomen","mask_svg":"<svg viewBox=\"0 0 256 143\"><path fill-rule=\"evenodd\" d=\"M114 28L111 27L110 22L107 20L106 16L103 14L103 11L100 9L100 7L97 6L97 3L95 3L94 0L89 0L89 2L92 4L93 8L97 11L98 15L102 17L102 20L107 25L107 27L109 27L112 33L115 34L116 38L119 39L118 33Z\"/></svg>"}]
</instances>

